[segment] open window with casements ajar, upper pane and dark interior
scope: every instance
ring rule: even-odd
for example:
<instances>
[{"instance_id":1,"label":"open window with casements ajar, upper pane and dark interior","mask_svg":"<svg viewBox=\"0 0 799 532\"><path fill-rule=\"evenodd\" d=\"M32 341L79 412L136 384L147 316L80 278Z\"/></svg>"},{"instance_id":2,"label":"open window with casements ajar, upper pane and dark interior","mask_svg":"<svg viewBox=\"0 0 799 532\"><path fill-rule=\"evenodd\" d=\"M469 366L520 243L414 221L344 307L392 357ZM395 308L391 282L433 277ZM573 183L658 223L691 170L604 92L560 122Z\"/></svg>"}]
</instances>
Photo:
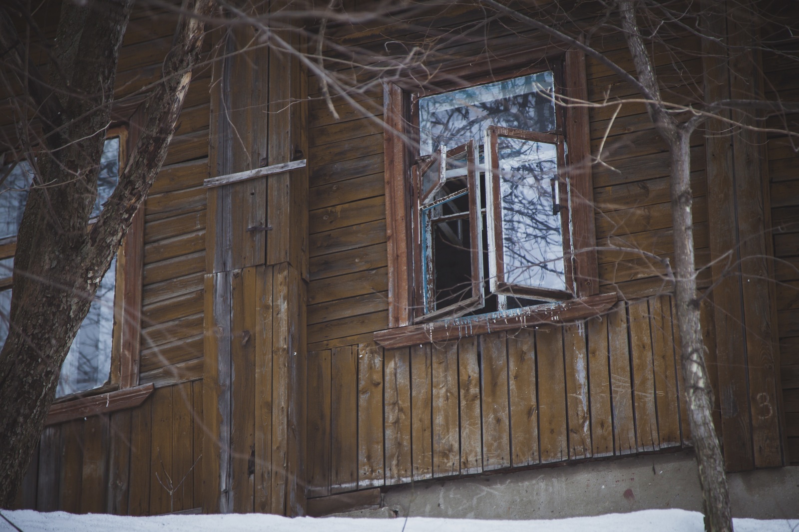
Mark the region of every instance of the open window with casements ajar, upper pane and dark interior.
<instances>
[{"instance_id":1,"label":"open window with casements ajar, upper pane and dark interior","mask_svg":"<svg viewBox=\"0 0 799 532\"><path fill-rule=\"evenodd\" d=\"M417 97L415 321L574 296L553 70Z\"/></svg>"}]
</instances>

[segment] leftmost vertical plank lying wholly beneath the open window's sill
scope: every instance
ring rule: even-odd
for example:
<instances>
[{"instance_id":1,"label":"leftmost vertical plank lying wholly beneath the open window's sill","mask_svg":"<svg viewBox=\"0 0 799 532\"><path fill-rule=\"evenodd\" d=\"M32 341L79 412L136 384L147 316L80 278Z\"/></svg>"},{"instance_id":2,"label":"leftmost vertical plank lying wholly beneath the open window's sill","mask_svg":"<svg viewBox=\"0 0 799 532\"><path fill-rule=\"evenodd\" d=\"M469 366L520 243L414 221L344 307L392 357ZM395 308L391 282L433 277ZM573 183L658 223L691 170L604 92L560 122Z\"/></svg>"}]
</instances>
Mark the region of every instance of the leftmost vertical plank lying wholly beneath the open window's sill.
<instances>
[{"instance_id":1,"label":"leftmost vertical plank lying wholly beneath the open window's sill","mask_svg":"<svg viewBox=\"0 0 799 532\"><path fill-rule=\"evenodd\" d=\"M407 347L384 351L387 485L411 481L411 359Z\"/></svg>"}]
</instances>

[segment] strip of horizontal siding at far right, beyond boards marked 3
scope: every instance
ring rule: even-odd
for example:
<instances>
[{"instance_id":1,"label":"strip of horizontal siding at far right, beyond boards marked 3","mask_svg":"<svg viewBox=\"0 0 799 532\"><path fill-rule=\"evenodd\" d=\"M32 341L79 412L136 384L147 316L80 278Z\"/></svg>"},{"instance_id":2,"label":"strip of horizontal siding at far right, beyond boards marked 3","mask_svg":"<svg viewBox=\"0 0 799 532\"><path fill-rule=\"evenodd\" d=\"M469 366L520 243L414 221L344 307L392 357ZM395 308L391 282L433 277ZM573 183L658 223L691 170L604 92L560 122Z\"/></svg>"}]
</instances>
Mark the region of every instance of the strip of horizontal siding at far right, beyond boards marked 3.
<instances>
[{"instance_id":1,"label":"strip of horizontal siding at far right, beyond boards marked 3","mask_svg":"<svg viewBox=\"0 0 799 532\"><path fill-rule=\"evenodd\" d=\"M763 70L772 85L766 97L795 101L799 95L796 68L777 54L764 54ZM774 129L799 129L799 117L769 118ZM777 291L777 331L781 359L781 405L785 412L787 461L799 465L799 156L785 135L771 133L767 142L771 200L773 264ZM773 405L771 405L773 406Z\"/></svg>"}]
</instances>

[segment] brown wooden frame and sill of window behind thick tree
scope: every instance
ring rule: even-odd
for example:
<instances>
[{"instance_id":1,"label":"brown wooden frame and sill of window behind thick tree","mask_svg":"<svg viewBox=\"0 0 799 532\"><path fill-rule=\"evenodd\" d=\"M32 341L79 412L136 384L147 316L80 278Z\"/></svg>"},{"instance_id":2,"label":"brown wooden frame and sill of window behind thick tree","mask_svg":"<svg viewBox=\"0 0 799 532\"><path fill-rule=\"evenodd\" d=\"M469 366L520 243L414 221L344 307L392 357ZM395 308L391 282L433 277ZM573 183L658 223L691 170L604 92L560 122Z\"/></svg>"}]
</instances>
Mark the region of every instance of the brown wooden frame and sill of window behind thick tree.
<instances>
[{"instance_id":1,"label":"brown wooden frame and sill of window behind thick tree","mask_svg":"<svg viewBox=\"0 0 799 532\"><path fill-rule=\"evenodd\" d=\"M119 167L124 168L131 142L128 128L109 128L105 137L119 137ZM56 399L48 412L46 425L136 407L153 392L152 383L139 386L144 269L143 211L140 208L133 215L128 232L117 252L109 383ZM13 257L16 248L16 236L0 240L0 260ZM10 276L0 278L0 290L10 289L11 284Z\"/></svg>"}]
</instances>

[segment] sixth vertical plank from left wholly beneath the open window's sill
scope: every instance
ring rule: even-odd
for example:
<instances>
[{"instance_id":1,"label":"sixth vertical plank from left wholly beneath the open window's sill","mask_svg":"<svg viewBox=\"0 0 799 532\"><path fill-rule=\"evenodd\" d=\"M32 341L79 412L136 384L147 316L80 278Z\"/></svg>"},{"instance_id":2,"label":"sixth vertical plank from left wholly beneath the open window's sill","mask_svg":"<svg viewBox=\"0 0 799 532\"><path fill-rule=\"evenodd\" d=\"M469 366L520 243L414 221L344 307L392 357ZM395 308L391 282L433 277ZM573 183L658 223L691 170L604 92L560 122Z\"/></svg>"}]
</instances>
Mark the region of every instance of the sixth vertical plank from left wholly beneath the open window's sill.
<instances>
[{"instance_id":1,"label":"sixth vertical plank from left wholly beneath the open window's sill","mask_svg":"<svg viewBox=\"0 0 799 532\"><path fill-rule=\"evenodd\" d=\"M512 466L539 463L539 404L535 385L535 333L507 335Z\"/></svg>"}]
</instances>

